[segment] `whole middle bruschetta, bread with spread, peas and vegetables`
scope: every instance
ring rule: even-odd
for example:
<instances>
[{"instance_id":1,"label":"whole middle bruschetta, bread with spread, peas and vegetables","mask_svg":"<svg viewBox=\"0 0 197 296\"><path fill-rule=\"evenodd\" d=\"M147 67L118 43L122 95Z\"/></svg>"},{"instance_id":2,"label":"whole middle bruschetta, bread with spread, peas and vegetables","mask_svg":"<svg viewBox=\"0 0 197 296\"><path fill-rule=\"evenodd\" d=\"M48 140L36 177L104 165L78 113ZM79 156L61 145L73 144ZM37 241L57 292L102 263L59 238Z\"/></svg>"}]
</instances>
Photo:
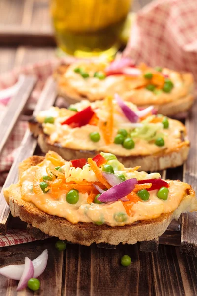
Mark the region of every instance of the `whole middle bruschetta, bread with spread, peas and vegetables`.
<instances>
[{"instance_id":1,"label":"whole middle bruschetta, bread with spread, peas and vegetables","mask_svg":"<svg viewBox=\"0 0 197 296\"><path fill-rule=\"evenodd\" d=\"M185 126L153 113L153 106L139 110L115 94L115 99L83 100L69 109L51 107L29 125L44 153L53 150L66 160L103 151L126 167L139 165L145 171L182 165L189 152Z\"/></svg>"}]
</instances>

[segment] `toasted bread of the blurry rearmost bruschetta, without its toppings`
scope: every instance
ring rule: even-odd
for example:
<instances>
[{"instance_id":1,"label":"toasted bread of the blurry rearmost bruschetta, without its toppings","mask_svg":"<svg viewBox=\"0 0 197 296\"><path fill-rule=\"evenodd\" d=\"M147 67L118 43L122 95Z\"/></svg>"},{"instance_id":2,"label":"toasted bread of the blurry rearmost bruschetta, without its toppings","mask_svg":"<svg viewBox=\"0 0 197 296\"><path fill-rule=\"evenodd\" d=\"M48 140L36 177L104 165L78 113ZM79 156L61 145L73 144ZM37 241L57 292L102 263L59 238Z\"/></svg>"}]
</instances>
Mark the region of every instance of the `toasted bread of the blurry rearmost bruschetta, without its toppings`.
<instances>
[{"instance_id":1,"label":"toasted bread of the blurry rearmost bruschetta, without its toppings","mask_svg":"<svg viewBox=\"0 0 197 296\"><path fill-rule=\"evenodd\" d=\"M60 65L57 70L54 73L54 78L57 81L57 92L60 96L66 99L66 101L69 104L75 104L77 102L80 102L81 100L87 99L89 101L94 101L88 93L84 95L83 93L80 93L77 89L71 87L69 83L65 81L64 73L66 72L68 68L68 65ZM193 78L192 75L188 73L182 73L183 80L189 80L188 83L192 84ZM103 100L105 96L100 96L100 98L97 98L98 100ZM129 99L128 99L129 101ZM140 106L141 108L146 108L149 105L153 105L155 109L158 110L158 113L166 115L166 116L174 116L179 113L185 113L187 112L194 103L194 95L193 93L184 94L183 96L177 98L177 100L173 100L171 102L165 102L163 104L154 104L153 102L150 102L150 104L147 102L147 104L138 105L138 102L134 102L137 106Z\"/></svg>"}]
</instances>

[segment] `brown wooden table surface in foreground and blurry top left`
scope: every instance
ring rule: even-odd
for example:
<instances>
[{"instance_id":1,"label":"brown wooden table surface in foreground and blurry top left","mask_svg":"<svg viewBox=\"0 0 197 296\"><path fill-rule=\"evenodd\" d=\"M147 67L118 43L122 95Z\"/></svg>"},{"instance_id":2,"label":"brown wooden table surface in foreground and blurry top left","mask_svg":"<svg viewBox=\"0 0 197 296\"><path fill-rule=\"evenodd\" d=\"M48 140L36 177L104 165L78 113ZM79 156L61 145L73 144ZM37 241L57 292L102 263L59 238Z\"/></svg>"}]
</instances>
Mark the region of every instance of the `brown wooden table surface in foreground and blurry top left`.
<instances>
[{"instance_id":1,"label":"brown wooden table surface in foreground and blurry top left","mask_svg":"<svg viewBox=\"0 0 197 296\"><path fill-rule=\"evenodd\" d=\"M134 0L133 10L148 2ZM6 41L4 33L13 32L13 28L15 34L21 34L20 42L13 35ZM28 30L34 47L27 46L31 44L26 38ZM48 0L0 0L0 74L54 57L53 44ZM50 238L1 248L0 266L23 263L25 256L34 259L48 249L47 268L40 276L41 288L35 295L197 295L197 258L181 254L178 247L160 245L157 253L146 253L139 251L138 244L121 245L116 250L70 244L66 251L58 252L55 242L56 238ZM130 267L120 265L124 254L131 256ZM16 284L0 276L0 295L33 295L28 289L17 293Z\"/></svg>"}]
</instances>

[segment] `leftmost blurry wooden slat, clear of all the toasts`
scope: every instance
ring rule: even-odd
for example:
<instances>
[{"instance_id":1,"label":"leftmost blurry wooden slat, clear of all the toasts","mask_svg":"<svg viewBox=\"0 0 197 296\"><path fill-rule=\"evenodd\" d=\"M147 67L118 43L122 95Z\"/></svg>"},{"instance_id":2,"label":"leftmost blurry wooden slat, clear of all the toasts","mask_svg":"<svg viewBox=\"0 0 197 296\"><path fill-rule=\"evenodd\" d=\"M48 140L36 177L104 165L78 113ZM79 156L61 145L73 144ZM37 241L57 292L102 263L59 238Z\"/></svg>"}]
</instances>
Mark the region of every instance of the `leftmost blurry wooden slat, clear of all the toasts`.
<instances>
[{"instance_id":1,"label":"leftmost blurry wooden slat, clear of all the toasts","mask_svg":"<svg viewBox=\"0 0 197 296\"><path fill-rule=\"evenodd\" d=\"M16 95L9 102L7 112L0 120L0 153L12 132L12 129L21 114L32 89L35 85L36 78L34 76L24 76L24 80L17 91Z\"/></svg>"}]
</instances>

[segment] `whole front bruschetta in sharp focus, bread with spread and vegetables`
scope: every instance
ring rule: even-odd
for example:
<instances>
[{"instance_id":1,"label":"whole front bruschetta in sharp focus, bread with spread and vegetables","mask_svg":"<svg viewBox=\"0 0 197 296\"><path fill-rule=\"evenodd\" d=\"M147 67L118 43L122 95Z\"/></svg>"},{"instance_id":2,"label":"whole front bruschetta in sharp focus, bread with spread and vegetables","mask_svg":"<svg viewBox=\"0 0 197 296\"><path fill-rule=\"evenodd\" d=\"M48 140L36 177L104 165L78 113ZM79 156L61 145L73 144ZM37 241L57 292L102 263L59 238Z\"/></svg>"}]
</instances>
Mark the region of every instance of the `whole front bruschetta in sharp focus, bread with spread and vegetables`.
<instances>
[{"instance_id":1,"label":"whole front bruschetta in sharp focus, bread with spread and vegetables","mask_svg":"<svg viewBox=\"0 0 197 296\"><path fill-rule=\"evenodd\" d=\"M158 238L172 219L197 210L190 185L138 168L109 153L65 161L49 151L24 160L18 183L4 196L14 217L61 240L135 244Z\"/></svg>"}]
</instances>

